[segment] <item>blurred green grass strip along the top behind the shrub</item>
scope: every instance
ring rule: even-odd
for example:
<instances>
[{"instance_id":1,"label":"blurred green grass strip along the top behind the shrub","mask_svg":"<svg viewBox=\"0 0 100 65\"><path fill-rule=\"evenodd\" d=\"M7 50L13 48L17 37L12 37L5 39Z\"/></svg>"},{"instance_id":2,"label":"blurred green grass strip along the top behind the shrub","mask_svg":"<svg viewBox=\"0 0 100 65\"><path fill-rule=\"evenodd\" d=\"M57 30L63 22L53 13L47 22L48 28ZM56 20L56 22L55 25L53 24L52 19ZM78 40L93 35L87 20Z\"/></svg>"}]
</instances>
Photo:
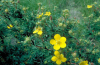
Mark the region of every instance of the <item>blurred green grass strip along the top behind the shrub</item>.
<instances>
[{"instance_id":1,"label":"blurred green grass strip along the top behind the shrub","mask_svg":"<svg viewBox=\"0 0 100 65\"><path fill-rule=\"evenodd\" d=\"M29 10L37 10L38 5L37 3L42 3L42 6L46 6L46 10L52 11L54 9L54 6L58 7L59 13L63 9L70 9L72 7L79 9L81 13L85 13L86 16L88 16L91 11L89 12L86 8L87 5L91 5L94 2L100 3L100 0L20 0L20 4L29 7Z\"/></svg>"}]
</instances>

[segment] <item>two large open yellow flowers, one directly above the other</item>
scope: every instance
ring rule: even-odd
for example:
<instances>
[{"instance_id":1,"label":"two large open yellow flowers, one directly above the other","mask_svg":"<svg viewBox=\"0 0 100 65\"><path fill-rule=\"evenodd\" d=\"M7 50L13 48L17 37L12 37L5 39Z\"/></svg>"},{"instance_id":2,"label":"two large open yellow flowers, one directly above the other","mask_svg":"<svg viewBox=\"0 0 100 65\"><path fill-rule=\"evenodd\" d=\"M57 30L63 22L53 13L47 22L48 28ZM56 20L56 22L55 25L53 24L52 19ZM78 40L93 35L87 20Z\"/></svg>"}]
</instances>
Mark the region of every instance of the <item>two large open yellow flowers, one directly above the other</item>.
<instances>
[{"instance_id":1,"label":"two large open yellow flowers, one directly above the other","mask_svg":"<svg viewBox=\"0 0 100 65\"><path fill-rule=\"evenodd\" d=\"M56 50L54 52L54 55L51 60L52 61L56 61L56 64L61 64L62 62L66 62L67 58L64 57L63 54L60 54L59 50L60 48L65 48L66 47L66 38L65 37L61 37L59 34L56 34L54 36L54 39L50 40L50 44L54 45L53 48Z\"/></svg>"}]
</instances>

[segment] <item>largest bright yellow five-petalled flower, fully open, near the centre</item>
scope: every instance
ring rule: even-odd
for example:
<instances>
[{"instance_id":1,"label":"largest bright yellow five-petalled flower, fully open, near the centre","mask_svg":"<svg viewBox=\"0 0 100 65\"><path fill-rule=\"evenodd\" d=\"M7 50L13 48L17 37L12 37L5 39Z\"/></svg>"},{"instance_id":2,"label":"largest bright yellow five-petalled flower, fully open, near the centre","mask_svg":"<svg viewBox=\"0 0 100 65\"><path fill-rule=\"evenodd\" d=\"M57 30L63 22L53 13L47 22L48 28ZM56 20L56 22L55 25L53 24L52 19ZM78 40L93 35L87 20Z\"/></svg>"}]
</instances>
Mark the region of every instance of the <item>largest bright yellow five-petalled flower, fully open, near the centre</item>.
<instances>
[{"instance_id":1,"label":"largest bright yellow five-petalled flower, fully open, near the centre","mask_svg":"<svg viewBox=\"0 0 100 65\"><path fill-rule=\"evenodd\" d=\"M55 50L59 50L60 48L65 48L66 47L66 38L61 37L59 34L56 34L54 36L54 39L50 40L50 44L54 45L53 48Z\"/></svg>"}]
</instances>

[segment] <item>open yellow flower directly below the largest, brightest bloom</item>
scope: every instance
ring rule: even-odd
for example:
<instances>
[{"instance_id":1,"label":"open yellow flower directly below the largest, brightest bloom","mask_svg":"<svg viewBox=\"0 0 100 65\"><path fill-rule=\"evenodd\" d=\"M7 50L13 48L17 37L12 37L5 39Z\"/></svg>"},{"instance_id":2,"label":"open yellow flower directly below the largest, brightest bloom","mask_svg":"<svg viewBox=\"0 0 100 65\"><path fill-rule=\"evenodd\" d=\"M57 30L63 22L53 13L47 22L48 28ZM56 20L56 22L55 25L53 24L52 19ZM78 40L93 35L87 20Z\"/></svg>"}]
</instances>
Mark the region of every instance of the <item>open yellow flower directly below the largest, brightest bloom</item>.
<instances>
[{"instance_id":1,"label":"open yellow flower directly below the largest, brightest bloom","mask_svg":"<svg viewBox=\"0 0 100 65\"><path fill-rule=\"evenodd\" d=\"M55 56L51 58L52 61L56 61L56 64L61 64L62 62L66 62L67 58L64 57L63 54L60 54L58 51L54 52Z\"/></svg>"}]
</instances>

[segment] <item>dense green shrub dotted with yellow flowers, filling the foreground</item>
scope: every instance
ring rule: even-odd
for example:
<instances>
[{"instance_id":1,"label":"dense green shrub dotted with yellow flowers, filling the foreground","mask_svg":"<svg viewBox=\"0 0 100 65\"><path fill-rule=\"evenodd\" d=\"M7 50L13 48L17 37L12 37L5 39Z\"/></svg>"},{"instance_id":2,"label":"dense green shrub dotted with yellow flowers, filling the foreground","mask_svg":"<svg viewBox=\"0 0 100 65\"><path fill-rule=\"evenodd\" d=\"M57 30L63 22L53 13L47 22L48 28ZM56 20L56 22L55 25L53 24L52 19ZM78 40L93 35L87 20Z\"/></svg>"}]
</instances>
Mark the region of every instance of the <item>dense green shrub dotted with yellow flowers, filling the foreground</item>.
<instances>
[{"instance_id":1,"label":"dense green shrub dotted with yellow flowers, filling the foreground","mask_svg":"<svg viewBox=\"0 0 100 65\"><path fill-rule=\"evenodd\" d=\"M42 3L29 11L18 1L0 0L1 65L99 65L100 5L92 13L71 19L69 10L45 10ZM54 62L53 62L54 61Z\"/></svg>"}]
</instances>

